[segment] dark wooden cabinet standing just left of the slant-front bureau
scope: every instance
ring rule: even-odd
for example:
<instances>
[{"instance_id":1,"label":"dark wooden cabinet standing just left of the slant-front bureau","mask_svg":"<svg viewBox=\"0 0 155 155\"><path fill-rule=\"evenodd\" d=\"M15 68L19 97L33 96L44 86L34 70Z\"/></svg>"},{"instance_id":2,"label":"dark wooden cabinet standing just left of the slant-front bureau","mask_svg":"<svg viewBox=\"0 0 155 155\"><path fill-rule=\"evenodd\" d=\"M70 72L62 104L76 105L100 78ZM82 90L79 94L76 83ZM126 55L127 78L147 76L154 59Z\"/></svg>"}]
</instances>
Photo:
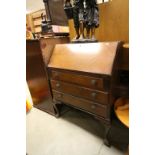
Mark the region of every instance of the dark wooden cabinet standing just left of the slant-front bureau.
<instances>
[{"instance_id":1,"label":"dark wooden cabinet standing just left of the slant-front bureau","mask_svg":"<svg viewBox=\"0 0 155 155\"><path fill-rule=\"evenodd\" d=\"M55 115L47 64L55 44L68 43L68 37L26 41L26 80L36 108Z\"/></svg>"}]
</instances>

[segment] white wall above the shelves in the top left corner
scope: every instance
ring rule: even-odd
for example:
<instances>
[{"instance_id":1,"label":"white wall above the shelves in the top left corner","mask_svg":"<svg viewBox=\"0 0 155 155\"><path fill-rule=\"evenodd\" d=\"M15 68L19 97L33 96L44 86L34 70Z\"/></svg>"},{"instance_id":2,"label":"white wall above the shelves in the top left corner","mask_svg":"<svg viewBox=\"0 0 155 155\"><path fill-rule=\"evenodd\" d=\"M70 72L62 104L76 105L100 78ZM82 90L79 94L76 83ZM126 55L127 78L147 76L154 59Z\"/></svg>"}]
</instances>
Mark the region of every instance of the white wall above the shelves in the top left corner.
<instances>
[{"instance_id":1,"label":"white wall above the shelves in the top left corner","mask_svg":"<svg viewBox=\"0 0 155 155\"><path fill-rule=\"evenodd\" d=\"M26 13L44 9L43 0L26 0Z\"/></svg>"}]
</instances>

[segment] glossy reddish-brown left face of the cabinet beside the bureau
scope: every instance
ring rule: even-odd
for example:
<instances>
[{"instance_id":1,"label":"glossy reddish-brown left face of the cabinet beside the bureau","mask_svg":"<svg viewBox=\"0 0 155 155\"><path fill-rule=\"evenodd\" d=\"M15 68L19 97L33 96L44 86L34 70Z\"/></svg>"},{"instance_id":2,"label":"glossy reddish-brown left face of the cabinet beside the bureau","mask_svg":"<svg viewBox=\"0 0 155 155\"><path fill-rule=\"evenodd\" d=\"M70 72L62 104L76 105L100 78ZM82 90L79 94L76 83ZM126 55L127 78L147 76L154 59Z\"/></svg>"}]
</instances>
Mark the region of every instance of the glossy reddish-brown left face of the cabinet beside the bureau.
<instances>
[{"instance_id":1,"label":"glossy reddish-brown left face of the cabinet beside the bureau","mask_svg":"<svg viewBox=\"0 0 155 155\"><path fill-rule=\"evenodd\" d=\"M27 40L26 80L32 95L34 107L38 108L46 101L46 106L41 107L41 109L54 114L52 96L47 79L39 40Z\"/></svg>"}]
</instances>

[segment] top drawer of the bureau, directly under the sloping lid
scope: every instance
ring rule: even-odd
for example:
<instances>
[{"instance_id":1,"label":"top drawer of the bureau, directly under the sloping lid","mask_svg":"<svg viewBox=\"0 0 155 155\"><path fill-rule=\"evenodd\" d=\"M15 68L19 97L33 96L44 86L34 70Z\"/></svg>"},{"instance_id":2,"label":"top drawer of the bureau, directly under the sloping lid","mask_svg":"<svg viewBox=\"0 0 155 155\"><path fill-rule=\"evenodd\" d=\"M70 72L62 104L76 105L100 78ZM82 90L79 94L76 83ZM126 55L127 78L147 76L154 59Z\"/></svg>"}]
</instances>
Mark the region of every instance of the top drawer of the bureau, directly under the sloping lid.
<instances>
[{"instance_id":1,"label":"top drawer of the bureau, directly under the sloping lid","mask_svg":"<svg viewBox=\"0 0 155 155\"><path fill-rule=\"evenodd\" d=\"M86 75L78 75L71 72L52 71L52 79L69 82L88 88L103 90L103 78L96 78Z\"/></svg>"}]
</instances>

